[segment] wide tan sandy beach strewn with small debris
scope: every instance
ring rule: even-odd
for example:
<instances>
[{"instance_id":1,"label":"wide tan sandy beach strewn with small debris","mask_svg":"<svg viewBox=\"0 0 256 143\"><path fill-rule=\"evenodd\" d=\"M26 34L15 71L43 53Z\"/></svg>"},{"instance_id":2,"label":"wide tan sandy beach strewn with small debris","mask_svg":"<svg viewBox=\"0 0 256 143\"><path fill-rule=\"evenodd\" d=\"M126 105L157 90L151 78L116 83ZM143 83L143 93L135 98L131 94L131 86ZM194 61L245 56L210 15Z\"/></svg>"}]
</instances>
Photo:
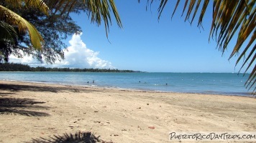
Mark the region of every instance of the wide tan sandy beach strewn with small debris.
<instances>
[{"instance_id":1,"label":"wide tan sandy beach strewn with small debris","mask_svg":"<svg viewBox=\"0 0 256 143\"><path fill-rule=\"evenodd\" d=\"M170 131L256 131L252 97L6 81L0 96L0 142L170 142Z\"/></svg>"}]
</instances>

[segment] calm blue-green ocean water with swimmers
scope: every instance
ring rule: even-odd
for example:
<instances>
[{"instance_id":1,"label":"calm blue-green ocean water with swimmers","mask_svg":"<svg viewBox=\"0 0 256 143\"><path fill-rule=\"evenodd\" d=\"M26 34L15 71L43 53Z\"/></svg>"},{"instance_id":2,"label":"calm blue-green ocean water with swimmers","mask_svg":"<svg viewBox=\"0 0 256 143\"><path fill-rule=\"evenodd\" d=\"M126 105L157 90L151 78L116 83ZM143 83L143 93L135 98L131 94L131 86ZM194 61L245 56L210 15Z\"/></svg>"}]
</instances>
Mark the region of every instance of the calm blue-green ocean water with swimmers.
<instances>
[{"instance_id":1,"label":"calm blue-green ocean water with swimmers","mask_svg":"<svg viewBox=\"0 0 256 143\"><path fill-rule=\"evenodd\" d=\"M243 76L237 73L0 72L0 80L159 92L251 96L244 87L248 77L249 74Z\"/></svg>"}]
</instances>

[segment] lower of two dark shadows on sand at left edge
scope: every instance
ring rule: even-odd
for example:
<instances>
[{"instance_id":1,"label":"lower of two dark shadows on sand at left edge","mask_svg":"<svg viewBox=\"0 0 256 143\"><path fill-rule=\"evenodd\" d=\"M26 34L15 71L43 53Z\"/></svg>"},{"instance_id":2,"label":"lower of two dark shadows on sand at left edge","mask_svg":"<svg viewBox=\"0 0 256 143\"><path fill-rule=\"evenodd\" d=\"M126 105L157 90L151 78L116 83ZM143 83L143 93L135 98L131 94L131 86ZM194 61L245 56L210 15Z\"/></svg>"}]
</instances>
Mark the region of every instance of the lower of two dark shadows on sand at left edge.
<instances>
[{"instance_id":1,"label":"lower of two dark shadows on sand at left edge","mask_svg":"<svg viewBox=\"0 0 256 143\"><path fill-rule=\"evenodd\" d=\"M29 117L47 117L50 114L35 112L31 110L47 109L47 107L37 106L45 102L36 102L33 99L0 98L0 114L14 114Z\"/></svg>"}]
</instances>

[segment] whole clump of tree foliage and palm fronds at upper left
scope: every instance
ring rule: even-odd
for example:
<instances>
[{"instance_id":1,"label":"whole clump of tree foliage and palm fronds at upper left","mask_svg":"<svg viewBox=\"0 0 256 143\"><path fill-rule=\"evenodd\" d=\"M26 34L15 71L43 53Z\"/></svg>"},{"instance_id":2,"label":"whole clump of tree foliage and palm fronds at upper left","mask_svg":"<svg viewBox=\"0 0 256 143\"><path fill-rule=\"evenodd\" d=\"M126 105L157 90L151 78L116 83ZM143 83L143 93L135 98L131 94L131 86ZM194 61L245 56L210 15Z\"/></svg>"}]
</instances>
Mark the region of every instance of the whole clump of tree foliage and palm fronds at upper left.
<instances>
[{"instance_id":1,"label":"whole clump of tree foliage and palm fronds at upper left","mask_svg":"<svg viewBox=\"0 0 256 143\"><path fill-rule=\"evenodd\" d=\"M63 59L66 45L62 40L81 30L69 14L85 11L98 26L104 21L107 35L111 10L122 27L113 0L1 0L0 29L4 32L0 37L0 62L8 61L10 54L22 57L21 51L47 63Z\"/></svg>"}]
</instances>

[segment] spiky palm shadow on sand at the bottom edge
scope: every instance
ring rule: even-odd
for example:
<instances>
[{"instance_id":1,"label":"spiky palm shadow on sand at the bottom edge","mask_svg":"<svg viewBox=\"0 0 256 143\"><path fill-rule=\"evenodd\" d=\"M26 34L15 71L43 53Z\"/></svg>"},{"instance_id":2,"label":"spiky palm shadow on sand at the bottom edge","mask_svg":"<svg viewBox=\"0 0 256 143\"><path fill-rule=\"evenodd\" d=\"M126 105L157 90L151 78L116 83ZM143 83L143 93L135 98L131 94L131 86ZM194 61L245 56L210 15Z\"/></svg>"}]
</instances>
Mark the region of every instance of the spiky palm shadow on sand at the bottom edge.
<instances>
[{"instance_id":1,"label":"spiky palm shadow on sand at the bottom edge","mask_svg":"<svg viewBox=\"0 0 256 143\"><path fill-rule=\"evenodd\" d=\"M77 132L75 134L63 134L63 136L60 135L54 135L53 137L47 137L43 138L40 137L38 139L32 139L31 142L27 143L57 143L57 142L62 142L62 143L94 143L94 142L103 142L103 143L111 143L111 142L105 142L99 137L96 137L94 134L91 132Z\"/></svg>"}]
</instances>

